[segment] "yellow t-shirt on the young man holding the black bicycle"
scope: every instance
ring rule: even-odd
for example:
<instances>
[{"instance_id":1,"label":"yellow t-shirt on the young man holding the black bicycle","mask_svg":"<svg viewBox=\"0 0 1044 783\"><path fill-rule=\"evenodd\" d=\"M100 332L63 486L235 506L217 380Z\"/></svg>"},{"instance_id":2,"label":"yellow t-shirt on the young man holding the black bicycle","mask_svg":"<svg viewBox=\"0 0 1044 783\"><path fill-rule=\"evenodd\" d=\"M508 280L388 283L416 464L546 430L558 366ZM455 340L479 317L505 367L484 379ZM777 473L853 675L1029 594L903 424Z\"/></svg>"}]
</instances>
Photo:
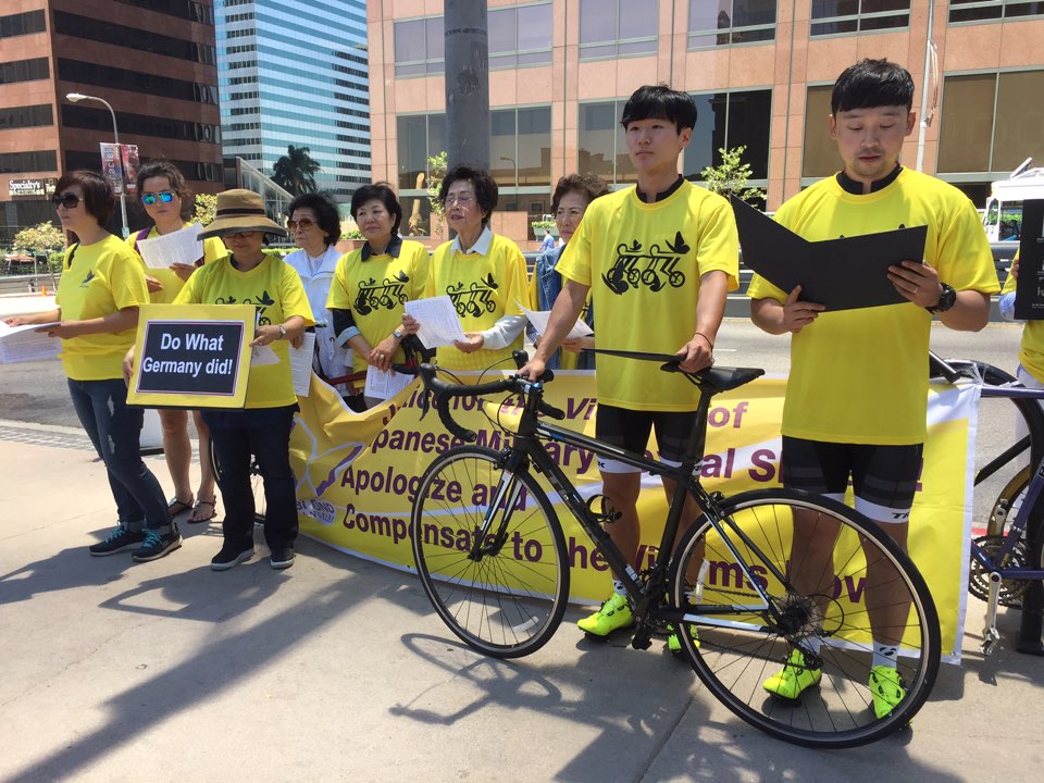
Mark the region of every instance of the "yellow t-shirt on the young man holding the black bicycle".
<instances>
[{"instance_id":1,"label":"yellow t-shirt on the young man holding the black bicycle","mask_svg":"<svg viewBox=\"0 0 1044 783\"><path fill-rule=\"evenodd\" d=\"M591 286L598 348L674 353L693 338L699 278L721 271L737 286L736 223L729 202L689 182L645 203L635 188L591 202L556 269ZM692 411L699 391L684 377L635 359L599 356L598 402Z\"/></svg>"}]
</instances>

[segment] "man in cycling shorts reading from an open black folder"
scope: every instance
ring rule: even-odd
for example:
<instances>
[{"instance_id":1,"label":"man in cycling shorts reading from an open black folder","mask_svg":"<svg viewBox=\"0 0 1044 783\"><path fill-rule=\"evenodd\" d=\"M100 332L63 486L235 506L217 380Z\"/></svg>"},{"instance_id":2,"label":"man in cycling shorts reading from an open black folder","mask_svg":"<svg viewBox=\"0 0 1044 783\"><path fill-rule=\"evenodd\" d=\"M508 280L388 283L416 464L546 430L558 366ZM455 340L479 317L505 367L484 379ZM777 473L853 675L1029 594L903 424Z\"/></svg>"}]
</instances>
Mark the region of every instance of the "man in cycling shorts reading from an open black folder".
<instances>
[{"instance_id":1,"label":"man in cycling shorts reading from an open black folder","mask_svg":"<svg viewBox=\"0 0 1044 783\"><path fill-rule=\"evenodd\" d=\"M978 332L998 290L993 256L974 207L959 190L898 162L913 129L913 80L886 60L841 74L831 97L830 135L844 170L786 201L776 221L809 240L928 226L924 259L890 268L908 303L826 312L755 276L754 322L793 335L783 407L781 476L790 488L843 500L849 476L856 509L904 549L927 437L928 349L932 314L949 328ZM837 259L843 263L844 259ZM796 518L790 577L806 595L830 594L836 529ZM810 547L813 547L810 549ZM909 601L890 587L891 567L868 567L866 606L873 629L869 687L877 717L905 696L895 661ZM825 597L823 598L825 610ZM805 644L818 656L820 639ZM766 691L797 698L822 670L794 648Z\"/></svg>"}]
</instances>

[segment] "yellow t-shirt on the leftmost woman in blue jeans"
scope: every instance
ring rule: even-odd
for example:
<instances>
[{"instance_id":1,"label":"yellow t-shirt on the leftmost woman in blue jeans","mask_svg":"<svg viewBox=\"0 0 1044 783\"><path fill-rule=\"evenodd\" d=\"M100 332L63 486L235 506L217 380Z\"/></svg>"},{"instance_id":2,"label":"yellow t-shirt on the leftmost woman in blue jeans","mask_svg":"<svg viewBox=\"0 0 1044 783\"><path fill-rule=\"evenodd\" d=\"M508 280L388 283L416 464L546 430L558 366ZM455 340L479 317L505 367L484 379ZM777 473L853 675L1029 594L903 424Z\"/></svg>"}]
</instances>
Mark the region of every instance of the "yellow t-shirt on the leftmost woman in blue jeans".
<instances>
[{"instance_id":1,"label":"yellow t-shirt on the leftmost woman in blue jeans","mask_svg":"<svg viewBox=\"0 0 1044 783\"><path fill-rule=\"evenodd\" d=\"M72 265L70 265L72 257ZM149 289L138 257L122 239L108 235L94 245L65 251L55 303L62 319L86 321L149 303ZM135 330L62 340L62 365L73 381L123 377L123 357L134 345Z\"/></svg>"}]
</instances>

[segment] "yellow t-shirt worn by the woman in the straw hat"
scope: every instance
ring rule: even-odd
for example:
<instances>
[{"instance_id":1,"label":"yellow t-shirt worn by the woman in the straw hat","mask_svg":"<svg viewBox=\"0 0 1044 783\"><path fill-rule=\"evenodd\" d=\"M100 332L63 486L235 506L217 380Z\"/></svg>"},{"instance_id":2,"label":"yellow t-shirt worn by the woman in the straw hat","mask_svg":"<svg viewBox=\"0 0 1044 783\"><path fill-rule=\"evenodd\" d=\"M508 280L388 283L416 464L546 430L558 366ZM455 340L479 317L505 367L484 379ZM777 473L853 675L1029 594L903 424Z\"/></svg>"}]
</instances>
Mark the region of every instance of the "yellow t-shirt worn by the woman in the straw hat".
<instances>
[{"instance_id":1,"label":"yellow t-shirt worn by the woman in the straw hat","mask_svg":"<svg viewBox=\"0 0 1044 783\"><path fill-rule=\"evenodd\" d=\"M306 326L315 323L300 276L276 253L265 253L264 261L249 272L235 269L231 256L204 264L188 278L174 303L253 304L260 326L281 324L293 315L303 318ZM297 402L289 343L275 340L271 347L279 361L250 365L246 408L282 408Z\"/></svg>"}]
</instances>

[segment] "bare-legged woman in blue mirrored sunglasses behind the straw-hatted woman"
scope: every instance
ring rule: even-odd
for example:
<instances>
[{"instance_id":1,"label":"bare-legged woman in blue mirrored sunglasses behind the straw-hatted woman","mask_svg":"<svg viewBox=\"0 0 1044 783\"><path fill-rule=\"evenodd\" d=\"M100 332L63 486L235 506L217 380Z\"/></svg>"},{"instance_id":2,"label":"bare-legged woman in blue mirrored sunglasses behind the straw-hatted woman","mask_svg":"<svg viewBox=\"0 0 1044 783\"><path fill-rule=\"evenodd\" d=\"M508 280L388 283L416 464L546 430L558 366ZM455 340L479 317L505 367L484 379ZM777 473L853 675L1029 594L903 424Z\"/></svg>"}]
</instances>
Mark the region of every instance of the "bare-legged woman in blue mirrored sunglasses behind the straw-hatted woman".
<instances>
[{"instance_id":1,"label":"bare-legged woman in blue mirrored sunglasses behind the straw-hatted woman","mask_svg":"<svg viewBox=\"0 0 1044 783\"><path fill-rule=\"evenodd\" d=\"M138 170L138 194L146 213L152 219L153 225L142 228L127 237L127 244L137 252L137 245L142 239L153 239L158 236L172 234L190 225L192 212L191 190L181 170L167 161L150 161ZM150 269L145 266L146 278L149 279L149 296L153 303L167 304L185 285L198 266L216 261L225 254L225 248L220 239L203 240L202 254L195 264L172 264L170 269ZM199 411L192 411L192 421L199 436L199 489L192 495L192 485L189 477L189 464L192 460L192 444L188 437L188 411L172 408L159 411L160 424L163 428L163 456L166 458L166 469L171 481L174 482L174 497L167 501L171 515L176 517L191 511L189 523L207 522L216 513L216 493L214 490L214 472L210 465L210 431Z\"/></svg>"}]
</instances>

